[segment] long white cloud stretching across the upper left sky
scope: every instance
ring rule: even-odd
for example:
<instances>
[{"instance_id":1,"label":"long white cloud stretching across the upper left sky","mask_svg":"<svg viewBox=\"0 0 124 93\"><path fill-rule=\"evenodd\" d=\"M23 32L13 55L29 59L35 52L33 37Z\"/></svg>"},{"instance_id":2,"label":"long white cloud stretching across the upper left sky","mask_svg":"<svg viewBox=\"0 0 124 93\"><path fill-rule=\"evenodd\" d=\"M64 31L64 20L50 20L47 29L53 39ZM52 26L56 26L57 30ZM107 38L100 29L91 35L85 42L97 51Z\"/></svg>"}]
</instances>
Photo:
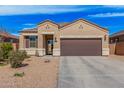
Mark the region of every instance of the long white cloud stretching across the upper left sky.
<instances>
[{"instance_id":1,"label":"long white cloud stretching across the upper left sky","mask_svg":"<svg viewBox=\"0 0 124 93\"><path fill-rule=\"evenodd\" d=\"M78 6L47 6L47 5L10 5L10 6L0 6L0 15L19 15L19 14L54 14L54 13L64 13L64 12L77 12L84 11L86 8Z\"/></svg>"}]
</instances>

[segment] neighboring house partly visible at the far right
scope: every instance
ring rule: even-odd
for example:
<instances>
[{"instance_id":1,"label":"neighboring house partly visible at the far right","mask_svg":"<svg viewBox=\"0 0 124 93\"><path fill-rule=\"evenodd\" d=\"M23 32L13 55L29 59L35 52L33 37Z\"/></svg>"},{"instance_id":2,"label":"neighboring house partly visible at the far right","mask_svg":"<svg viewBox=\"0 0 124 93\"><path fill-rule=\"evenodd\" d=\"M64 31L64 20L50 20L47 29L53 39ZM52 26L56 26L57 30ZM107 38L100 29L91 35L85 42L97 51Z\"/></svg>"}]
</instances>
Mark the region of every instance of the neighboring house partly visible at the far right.
<instances>
[{"instance_id":1,"label":"neighboring house partly visible at the far right","mask_svg":"<svg viewBox=\"0 0 124 93\"><path fill-rule=\"evenodd\" d=\"M124 30L110 35L110 54L124 55Z\"/></svg>"}]
</instances>

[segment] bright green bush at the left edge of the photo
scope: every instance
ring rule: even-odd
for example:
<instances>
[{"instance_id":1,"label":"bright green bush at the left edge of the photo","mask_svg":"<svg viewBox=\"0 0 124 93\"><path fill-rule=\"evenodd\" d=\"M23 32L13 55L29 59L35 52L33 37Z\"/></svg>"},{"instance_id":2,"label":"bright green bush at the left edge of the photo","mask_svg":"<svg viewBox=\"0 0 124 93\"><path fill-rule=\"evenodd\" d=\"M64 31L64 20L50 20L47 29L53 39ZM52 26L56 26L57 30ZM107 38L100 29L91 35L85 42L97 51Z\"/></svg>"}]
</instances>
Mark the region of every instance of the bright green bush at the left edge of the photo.
<instances>
[{"instance_id":1,"label":"bright green bush at the left edge of the photo","mask_svg":"<svg viewBox=\"0 0 124 93\"><path fill-rule=\"evenodd\" d=\"M13 50L11 43L0 43L0 56L3 59L8 59L9 52Z\"/></svg>"}]
</instances>

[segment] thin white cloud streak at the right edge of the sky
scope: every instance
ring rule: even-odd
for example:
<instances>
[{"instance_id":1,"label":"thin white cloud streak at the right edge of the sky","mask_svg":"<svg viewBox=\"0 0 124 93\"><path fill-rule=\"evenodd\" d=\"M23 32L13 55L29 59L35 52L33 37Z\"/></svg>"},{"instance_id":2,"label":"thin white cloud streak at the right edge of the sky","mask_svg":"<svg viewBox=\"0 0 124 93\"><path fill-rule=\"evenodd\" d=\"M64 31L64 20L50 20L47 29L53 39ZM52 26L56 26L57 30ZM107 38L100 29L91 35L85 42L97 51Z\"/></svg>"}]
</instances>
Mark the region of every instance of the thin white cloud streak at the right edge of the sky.
<instances>
[{"instance_id":1,"label":"thin white cloud streak at the right edge of the sky","mask_svg":"<svg viewBox=\"0 0 124 93\"><path fill-rule=\"evenodd\" d=\"M89 17L120 17L124 16L124 13L100 13L94 15L88 15Z\"/></svg>"}]
</instances>

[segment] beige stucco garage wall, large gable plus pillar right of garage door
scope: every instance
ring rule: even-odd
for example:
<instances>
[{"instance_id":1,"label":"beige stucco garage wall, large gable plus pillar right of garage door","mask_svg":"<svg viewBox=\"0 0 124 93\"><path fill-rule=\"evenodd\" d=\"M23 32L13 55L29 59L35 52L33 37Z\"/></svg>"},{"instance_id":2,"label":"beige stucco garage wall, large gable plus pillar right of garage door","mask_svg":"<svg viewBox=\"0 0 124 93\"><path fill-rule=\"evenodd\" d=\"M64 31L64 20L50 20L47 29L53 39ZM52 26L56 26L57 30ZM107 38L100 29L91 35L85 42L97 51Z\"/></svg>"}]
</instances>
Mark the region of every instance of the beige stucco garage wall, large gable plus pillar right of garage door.
<instances>
[{"instance_id":1,"label":"beige stucco garage wall, large gable plus pillar right of garage door","mask_svg":"<svg viewBox=\"0 0 124 93\"><path fill-rule=\"evenodd\" d=\"M82 25L83 29L79 29ZM109 34L107 30L79 20L60 29L60 37L102 38L102 54L109 55ZM106 40L104 37L106 35Z\"/></svg>"}]
</instances>

